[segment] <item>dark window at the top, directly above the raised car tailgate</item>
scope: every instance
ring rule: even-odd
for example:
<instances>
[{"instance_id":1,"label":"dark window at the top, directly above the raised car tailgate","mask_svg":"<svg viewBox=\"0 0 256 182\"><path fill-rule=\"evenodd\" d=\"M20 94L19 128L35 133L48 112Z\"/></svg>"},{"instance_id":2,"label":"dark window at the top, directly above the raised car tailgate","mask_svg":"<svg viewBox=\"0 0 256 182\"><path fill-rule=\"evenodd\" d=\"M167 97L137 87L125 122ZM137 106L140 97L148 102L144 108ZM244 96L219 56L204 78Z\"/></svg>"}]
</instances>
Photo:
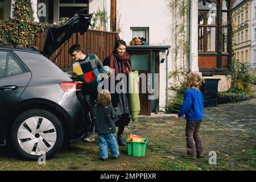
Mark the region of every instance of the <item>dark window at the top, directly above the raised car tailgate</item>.
<instances>
[{"instance_id":1,"label":"dark window at the top, directly above the raised car tailgate","mask_svg":"<svg viewBox=\"0 0 256 182\"><path fill-rule=\"evenodd\" d=\"M72 18L75 13L88 14L89 0L59 0L60 18Z\"/></svg>"}]
</instances>

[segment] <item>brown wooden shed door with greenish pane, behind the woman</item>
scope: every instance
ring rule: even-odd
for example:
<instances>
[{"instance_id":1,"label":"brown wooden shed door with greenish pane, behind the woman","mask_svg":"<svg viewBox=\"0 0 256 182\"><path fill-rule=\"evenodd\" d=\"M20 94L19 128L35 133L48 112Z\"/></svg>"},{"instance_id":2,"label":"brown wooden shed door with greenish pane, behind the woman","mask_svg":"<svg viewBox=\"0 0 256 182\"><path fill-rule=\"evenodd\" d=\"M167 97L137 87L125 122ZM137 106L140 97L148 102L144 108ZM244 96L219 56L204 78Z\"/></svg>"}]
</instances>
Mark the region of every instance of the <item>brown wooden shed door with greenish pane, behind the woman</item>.
<instances>
[{"instance_id":1,"label":"brown wooden shed door with greenish pane, behind the woman","mask_svg":"<svg viewBox=\"0 0 256 182\"><path fill-rule=\"evenodd\" d=\"M151 73L151 50L127 50L131 56L131 69L133 71L138 70L139 75L144 73L146 80L143 82L140 78L139 83L139 100L141 102L141 115L151 114L151 100L148 99L150 95L148 90L151 88L151 77L148 73ZM145 91L146 86L146 93ZM143 92L142 92L143 91Z\"/></svg>"}]
</instances>

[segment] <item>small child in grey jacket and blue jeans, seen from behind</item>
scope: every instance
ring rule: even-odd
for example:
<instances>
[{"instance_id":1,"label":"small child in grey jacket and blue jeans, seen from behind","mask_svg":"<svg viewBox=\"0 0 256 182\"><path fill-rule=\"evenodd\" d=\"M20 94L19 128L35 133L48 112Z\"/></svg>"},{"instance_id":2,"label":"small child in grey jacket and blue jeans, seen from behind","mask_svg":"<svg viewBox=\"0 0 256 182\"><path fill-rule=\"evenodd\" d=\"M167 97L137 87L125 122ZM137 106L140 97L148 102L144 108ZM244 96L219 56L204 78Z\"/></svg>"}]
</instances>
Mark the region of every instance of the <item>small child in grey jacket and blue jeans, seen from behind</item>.
<instances>
[{"instance_id":1,"label":"small child in grey jacket and blue jeans, seen from behind","mask_svg":"<svg viewBox=\"0 0 256 182\"><path fill-rule=\"evenodd\" d=\"M100 159L108 158L108 149L112 154L112 159L119 156L117 136L115 134L115 123L113 119L117 117L111 105L111 95L109 90L102 90L98 93L96 106L93 108L95 133L98 133L98 146L100 147Z\"/></svg>"}]
</instances>

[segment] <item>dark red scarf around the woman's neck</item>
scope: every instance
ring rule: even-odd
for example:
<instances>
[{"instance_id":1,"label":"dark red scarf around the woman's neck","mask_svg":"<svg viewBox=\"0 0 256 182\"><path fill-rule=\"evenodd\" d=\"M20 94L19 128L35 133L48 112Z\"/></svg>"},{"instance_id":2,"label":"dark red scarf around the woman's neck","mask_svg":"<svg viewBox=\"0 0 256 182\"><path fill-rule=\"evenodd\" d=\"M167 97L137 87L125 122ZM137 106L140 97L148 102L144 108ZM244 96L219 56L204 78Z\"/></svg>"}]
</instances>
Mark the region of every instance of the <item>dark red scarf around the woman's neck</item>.
<instances>
[{"instance_id":1,"label":"dark red scarf around the woman's neck","mask_svg":"<svg viewBox=\"0 0 256 182\"><path fill-rule=\"evenodd\" d=\"M130 56L127 52L123 55L117 55L114 52L110 53L110 68L115 69L115 75L119 73L117 59L122 61L122 71L123 73L131 72L131 66L129 63Z\"/></svg>"}]
</instances>

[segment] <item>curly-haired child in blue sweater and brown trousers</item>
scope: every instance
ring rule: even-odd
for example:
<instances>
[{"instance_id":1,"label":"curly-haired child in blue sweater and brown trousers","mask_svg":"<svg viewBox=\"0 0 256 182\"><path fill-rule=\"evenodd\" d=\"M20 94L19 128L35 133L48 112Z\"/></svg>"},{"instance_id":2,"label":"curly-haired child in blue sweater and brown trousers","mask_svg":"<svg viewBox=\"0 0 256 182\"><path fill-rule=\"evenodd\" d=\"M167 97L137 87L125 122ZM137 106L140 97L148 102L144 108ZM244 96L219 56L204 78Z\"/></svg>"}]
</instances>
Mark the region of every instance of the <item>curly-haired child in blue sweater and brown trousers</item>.
<instances>
[{"instance_id":1,"label":"curly-haired child in blue sweater and brown trousers","mask_svg":"<svg viewBox=\"0 0 256 182\"><path fill-rule=\"evenodd\" d=\"M203 140L200 135L200 126L204 117L204 97L199 87L204 82L196 73L189 73L185 83L189 89L185 92L183 106L176 119L185 114L187 119L185 135L187 138L187 154L183 158L203 158Z\"/></svg>"}]
</instances>

